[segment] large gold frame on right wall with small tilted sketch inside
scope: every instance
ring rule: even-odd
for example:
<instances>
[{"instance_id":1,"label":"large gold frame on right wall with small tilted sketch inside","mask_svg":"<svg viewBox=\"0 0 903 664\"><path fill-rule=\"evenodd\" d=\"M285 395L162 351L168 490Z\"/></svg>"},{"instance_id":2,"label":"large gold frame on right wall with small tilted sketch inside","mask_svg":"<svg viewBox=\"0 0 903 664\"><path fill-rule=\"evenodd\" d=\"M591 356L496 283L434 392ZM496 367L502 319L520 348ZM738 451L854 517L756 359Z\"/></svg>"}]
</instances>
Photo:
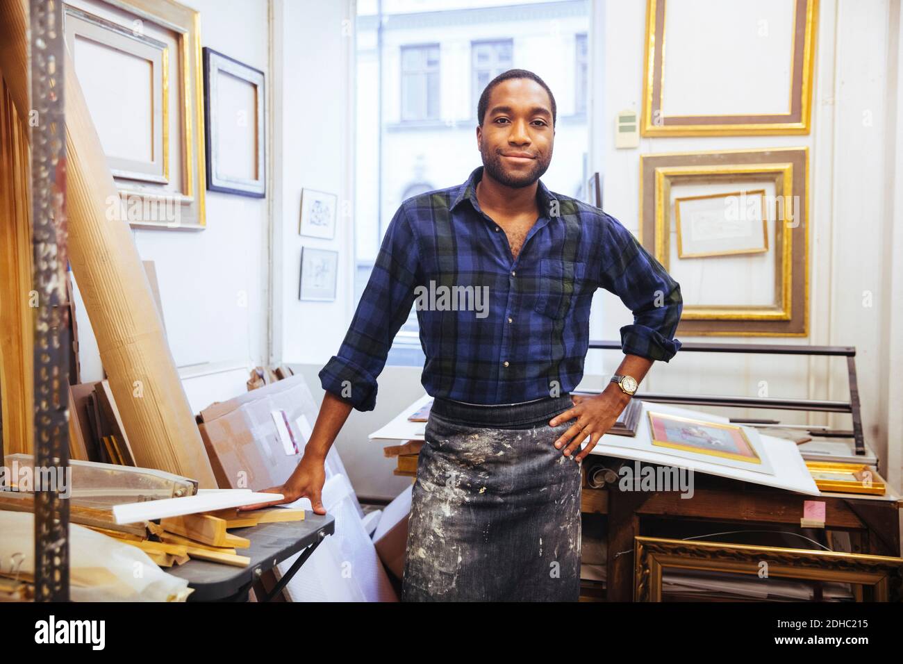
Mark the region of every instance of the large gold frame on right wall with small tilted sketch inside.
<instances>
[{"instance_id":1,"label":"large gold frame on right wall with small tilted sketch inside","mask_svg":"<svg viewBox=\"0 0 903 664\"><path fill-rule=\"evenodd\" d=\"M807 173L805 147L640 156L639 240L682 285L678 334L808 333Z\"/></svg>"}]
</instances>

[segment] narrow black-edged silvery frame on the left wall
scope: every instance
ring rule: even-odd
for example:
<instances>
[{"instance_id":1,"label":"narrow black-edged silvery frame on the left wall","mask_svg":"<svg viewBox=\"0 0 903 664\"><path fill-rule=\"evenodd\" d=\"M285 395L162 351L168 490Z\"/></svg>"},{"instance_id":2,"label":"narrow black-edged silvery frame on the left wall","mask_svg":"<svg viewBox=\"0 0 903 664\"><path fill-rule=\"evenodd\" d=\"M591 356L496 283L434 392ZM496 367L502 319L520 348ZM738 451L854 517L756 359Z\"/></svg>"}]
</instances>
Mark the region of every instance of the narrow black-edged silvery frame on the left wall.
<instances>
[{"instance_id":1,"label":"narrow black-edged silvery frame on the left wall","mask_svg":"<svg viewBox=\"0 0 903 664\"><path fill-rule=\"evenodd\" d=\"M204 140L211 192L265 196L265 100L263 71L204 49Z\"/></svg>"}]
</instances>

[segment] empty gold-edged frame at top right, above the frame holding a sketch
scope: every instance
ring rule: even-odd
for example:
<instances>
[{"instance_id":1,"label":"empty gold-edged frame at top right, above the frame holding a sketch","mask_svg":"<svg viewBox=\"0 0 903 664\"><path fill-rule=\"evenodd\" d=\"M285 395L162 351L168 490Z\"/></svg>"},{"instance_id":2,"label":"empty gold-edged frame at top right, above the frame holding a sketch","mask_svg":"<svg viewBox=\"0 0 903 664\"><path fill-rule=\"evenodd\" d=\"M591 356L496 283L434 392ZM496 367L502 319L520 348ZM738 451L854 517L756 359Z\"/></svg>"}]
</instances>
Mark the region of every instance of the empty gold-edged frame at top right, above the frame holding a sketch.
<instances>
[{"instance_id":1,"label":"empty gold-edged frame at top right, above the frame holding a sketch","mask_svg":"<svg viewBox=\"0 0 903 664\"><path fill-rule=\"evenodd\" d=\"M679 5L680 12L666 13L666 7ZM815 62L815 33L818 23L818 0L788 0L786 16L773 18L749 14L755 4L711 4L697 3L694 10L700 14L688 13L691 7L677 0L647 0L646 49L643 67L643 118L640 132L643 136L750 136L757 134L808 134L812 115L813 64ZM730 5L730 6L726 6ZM738 11L747 10L748 11ZM757 12L760 9L757 7ZM782 20L786 19L786 20ZM714 23L714 26L712 25ZM666 24L671 33L666 33ZM749 67L731 66L731 58L704 58L700 40L712 40L712 51L721 53L732 46L743 52ZM666 43L667 42L667 43ZM771 61L776 43L783 50L789 68L777 61ZM684 46L686 48L684 48ZM762 83L759 92L749 90L750 76L759 74L763 68L761 58L749 55L753 48L761 49L773 75L771 81ZM712 113L701 114L698 110L684 112L675 108L668 113L666 106L666 57L672 67L668 76L668 96L677 103L689 105L701 97L699 85L709 88L712 98ZM681 60L684 59L684 60ZM782 60L781 62L786 62ZM710 66L712 70L700 70ZM675 89L675 73L692 71L696 89ZM724 78L728 77L728 78ZM733 77L732 79L730 77ZM788 83L788 96L781 90ZM740 82L742 81L742 82ZM770 84L770 85L769 85ZM731 86L746 88L743 94L733 94ZM777 97L776 97L777 96ZM725 99L743 99L749 108L715 108L724 106ZM759 108L751 108L758 105ZM690 109L685 109L689 111ZM723 111L731 112L723 112ZM714 112L718 111L718 112Z\"/></svg>"}]
</instances>

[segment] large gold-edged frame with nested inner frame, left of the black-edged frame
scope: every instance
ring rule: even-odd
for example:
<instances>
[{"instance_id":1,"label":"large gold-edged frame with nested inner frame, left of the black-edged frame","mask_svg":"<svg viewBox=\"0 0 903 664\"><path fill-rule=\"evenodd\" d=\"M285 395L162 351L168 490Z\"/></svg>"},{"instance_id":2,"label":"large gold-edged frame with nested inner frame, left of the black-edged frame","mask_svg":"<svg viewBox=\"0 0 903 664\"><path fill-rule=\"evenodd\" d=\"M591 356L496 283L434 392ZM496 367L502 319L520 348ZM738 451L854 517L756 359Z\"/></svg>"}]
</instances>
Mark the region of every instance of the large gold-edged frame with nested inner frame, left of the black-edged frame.
<instances>
[{"instance_id":1,"label":"large gold-edged frame with nested inner frame, left of the black-edged frame","mask_svg":"<svg viewBox=\"0 0 903 664\"><path fill-rule=\"evenodd\" d=\"M108 217L134 228L203 229L200 14L172 0L70 0L64 23L92 119L109 139L102 142L120 205ZM103 55L98 49L107 52L107 66L79 67L78 51L93 64ZM105 108L91 104L92 89L101 101L125 94L135 112L100 117Z\"/></svg>"}]
</instances>

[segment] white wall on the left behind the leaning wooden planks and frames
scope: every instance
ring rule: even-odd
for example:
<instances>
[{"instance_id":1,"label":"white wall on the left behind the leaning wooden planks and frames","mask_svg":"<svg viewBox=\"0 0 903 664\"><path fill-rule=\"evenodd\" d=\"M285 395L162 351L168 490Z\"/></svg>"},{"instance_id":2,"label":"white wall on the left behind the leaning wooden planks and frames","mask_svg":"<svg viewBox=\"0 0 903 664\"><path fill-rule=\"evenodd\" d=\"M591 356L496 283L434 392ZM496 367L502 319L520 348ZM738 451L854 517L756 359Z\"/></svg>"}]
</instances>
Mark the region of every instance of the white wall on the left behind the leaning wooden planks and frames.
<instances>
[{"instance_id":1,"label":"white wall on the left behind the leaning wooden planks and frames","mask_svg":"<svg viewBox=\"0 0 903 664\"><path fill-rule=\"evenodd\" d=\"M263 70L271 84L267 0L184 4L200 12L202 46ZM167 339L194 411L245 391L247 368L265 360L268 198L206 192L206 229L132 231L142 259L154 261ZM79 309L82 380L98 380L96 342Z\"/></svg>"}]
</instances>

